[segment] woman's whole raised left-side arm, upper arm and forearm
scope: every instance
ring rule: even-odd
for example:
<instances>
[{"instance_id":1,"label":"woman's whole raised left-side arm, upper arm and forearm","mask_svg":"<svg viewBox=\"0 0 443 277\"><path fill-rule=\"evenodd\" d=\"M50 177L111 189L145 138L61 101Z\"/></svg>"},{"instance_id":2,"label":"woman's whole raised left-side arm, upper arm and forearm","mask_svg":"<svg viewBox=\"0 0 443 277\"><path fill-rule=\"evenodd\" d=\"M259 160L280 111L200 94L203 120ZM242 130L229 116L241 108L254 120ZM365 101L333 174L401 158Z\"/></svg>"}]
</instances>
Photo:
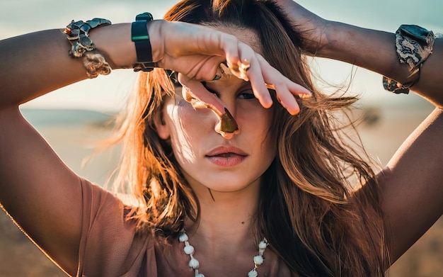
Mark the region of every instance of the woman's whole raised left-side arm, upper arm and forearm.
<instances>
[{"instance_id":1,"label":"woman's whole raised left-side arm, upper arm and forearm","mask_svg":"<svg viewBox=\"0 0 443 277\"><path fill-rule=\"evenodd\" d=\"M93 35L113 32L121 35L122 42L129 36L130 45L129 28L125 24L110 26ZM111 42L102 43L98 38L97 43ZM21 103L87 78L81 60L69 57L69 47L60 30L0 42L0 202L39 247L75 276L81 235L81 179L18 110ZM117 47L127 51L125 62L135 60L131 47ZM118 61L112 51L108 57Z\"/></svg>"}]
</instances>

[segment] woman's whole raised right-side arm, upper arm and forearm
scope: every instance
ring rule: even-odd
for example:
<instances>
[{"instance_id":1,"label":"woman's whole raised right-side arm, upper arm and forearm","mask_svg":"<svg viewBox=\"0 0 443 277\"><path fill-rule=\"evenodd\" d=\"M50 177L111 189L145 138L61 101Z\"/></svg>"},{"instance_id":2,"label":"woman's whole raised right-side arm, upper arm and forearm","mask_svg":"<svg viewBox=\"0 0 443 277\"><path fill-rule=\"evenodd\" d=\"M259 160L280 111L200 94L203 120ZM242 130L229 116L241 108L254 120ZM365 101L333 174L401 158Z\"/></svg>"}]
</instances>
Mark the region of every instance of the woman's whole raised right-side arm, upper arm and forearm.
<instances>
[{"instance_id":1,"label":"woman's whole raised right-side arm, upper arm and forearm","mask_svg":"<svg viewBox=\"0 0 443 277\"><path fill-rule=\"evenodd\" d=\"M401 84L409 67L396 55L394 33L326 21L292 0L276 0L294 28L304 31L307 52L370 69ZM394 30L395 31L395 30ZM412 91L436 106L393 156L381 176L382 208L390 229L392 261L403 254L443 213L443 40L422 66ZM381 86L381 82L380 82ZM386 92L389 93L389 92ZM382 139L382 138L381 138Z\"/></svg>"}]
</instances>

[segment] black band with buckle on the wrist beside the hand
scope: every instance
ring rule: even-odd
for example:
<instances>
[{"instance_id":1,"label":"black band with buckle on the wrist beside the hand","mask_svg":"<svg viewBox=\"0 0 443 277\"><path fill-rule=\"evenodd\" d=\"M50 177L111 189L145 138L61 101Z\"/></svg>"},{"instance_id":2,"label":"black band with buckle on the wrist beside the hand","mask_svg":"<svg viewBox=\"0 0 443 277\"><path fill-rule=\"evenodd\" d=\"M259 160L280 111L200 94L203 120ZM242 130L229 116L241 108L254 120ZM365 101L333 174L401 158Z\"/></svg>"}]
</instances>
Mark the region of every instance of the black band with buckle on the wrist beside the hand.
<instances>
[{"instance_id":1,"label":"black band with buckle on the wrist beside the hand","mask_svg":"<svg viewBox=\"0 0 443 277\"><path fill-rule=\"evenodd\" d=\"M137 63L134 64L134 72L144 71L150 72L155 67L155 62L152 62L152 48L149 40L147 23L154 18L151 13L140 13L135 17L135 21L131 26L131 39L135 45L135 52L137 53Z\"/></svg>"}]
</instances>

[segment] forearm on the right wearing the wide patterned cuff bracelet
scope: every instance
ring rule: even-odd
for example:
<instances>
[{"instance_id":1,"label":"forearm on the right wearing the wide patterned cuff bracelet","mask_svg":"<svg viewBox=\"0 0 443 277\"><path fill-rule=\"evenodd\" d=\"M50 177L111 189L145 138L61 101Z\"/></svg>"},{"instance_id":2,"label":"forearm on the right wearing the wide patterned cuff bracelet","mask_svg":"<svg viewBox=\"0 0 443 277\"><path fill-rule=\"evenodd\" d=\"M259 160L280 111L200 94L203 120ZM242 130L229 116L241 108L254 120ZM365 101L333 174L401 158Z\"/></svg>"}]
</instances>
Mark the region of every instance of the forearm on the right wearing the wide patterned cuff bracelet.
<instances>
[{"instance_id":1,"label":"forearm on the right wearing the wide patterned cuff bracelet","mask_svg":"<svg viewBox=\"0 0 443 277\"><path fill-rule=\"evenodd\" d=\"M396 36L345 23L327 21L292 0L274 0L304 37L301 47L309 55L355 64L405 84L409 66L401 64L396 54ZM393 30L395 31L395 30ZM411 90L437 107L443 106L443 41L436 39L432 55L420 70L420 79ZM380 86L381 86L380 81Z\"/></svg>"}]
</instances>

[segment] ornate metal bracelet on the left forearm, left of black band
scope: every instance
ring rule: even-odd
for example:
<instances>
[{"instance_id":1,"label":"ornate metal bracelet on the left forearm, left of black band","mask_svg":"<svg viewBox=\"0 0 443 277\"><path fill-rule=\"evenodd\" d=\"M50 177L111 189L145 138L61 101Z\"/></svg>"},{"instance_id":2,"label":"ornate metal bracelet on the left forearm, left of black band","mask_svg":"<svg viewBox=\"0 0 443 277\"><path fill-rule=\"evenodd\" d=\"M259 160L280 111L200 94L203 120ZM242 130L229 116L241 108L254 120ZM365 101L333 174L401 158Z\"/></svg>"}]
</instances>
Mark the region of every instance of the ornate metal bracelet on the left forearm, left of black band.
<instances>
[{"instance_id":1,"label":"ornate metal bracelet on the left forearm, left of black band","mask_svg":"<svg viewBox=\"0 0 443 277\"><path fill-rule=\"evenodd\" d=\"M111 22L103 18L93 18L90 21L71 21L71 23L62 30L67 35L71 49L71 57L84 57L83 64L88 78L96 78L99 74L108 75L111 72L110 65L105 61L105 57L96 50L96 45L89 38L89 31L98 26L110 25Z\"/></svg>"}]
</instances>

